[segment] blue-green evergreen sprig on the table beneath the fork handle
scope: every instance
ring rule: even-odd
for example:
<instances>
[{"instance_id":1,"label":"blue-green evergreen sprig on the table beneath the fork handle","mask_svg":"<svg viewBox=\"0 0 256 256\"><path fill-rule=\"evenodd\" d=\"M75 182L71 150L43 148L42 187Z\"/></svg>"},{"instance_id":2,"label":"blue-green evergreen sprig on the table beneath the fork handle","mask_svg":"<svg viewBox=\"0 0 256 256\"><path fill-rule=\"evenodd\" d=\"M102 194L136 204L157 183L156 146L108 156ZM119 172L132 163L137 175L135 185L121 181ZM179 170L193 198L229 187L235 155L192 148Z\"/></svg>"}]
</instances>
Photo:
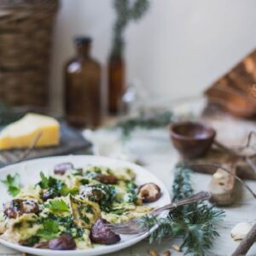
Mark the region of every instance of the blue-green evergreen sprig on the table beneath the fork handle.
<instances>
[{"instance_id":1,"label":"blue-green evergreen sprig on the table beneath the fork handle","mask_svg":"<svg viewBox=\"0 0 256 256\"><path fill-rule=\"evenodd\" d=\"M191 186L190 171L177 166L172 185L173 200L181 200L194 193ZM181 248L184 254L193 253L196 256L206 255L207 250L218 237L216 224L224 217L224 211L218 210L206 202L196 202L178 207L169 212L167 218L143 218L143 226L159 225L149 237L149 242L160 242L164 237L183 237Z\"/></svg>"}]
</instances>

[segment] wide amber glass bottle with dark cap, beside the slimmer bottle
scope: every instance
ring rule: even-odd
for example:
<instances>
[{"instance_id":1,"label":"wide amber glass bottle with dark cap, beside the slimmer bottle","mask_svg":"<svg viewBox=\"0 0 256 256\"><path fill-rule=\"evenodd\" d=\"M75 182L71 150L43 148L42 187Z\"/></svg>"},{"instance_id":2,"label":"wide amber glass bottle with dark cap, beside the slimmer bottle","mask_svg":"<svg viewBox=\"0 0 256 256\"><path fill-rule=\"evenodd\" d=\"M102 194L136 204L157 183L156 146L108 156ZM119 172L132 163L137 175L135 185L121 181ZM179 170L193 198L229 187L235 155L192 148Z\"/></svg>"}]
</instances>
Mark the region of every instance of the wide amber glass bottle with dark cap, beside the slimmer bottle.
<instances>
[{"instance_id":1,"label":"wide amber glass bottle with dark cap, beside the slimmer bottle","mask_svg":"<svg viewBox=\"0 0 256 256\"><path fill-rule=\"evenodd\" d=\"M77 55L65 67L67 122L95 128L101 121L101 67L90 57L90 38L75 38Z\"/></svg>"}]
</instances>

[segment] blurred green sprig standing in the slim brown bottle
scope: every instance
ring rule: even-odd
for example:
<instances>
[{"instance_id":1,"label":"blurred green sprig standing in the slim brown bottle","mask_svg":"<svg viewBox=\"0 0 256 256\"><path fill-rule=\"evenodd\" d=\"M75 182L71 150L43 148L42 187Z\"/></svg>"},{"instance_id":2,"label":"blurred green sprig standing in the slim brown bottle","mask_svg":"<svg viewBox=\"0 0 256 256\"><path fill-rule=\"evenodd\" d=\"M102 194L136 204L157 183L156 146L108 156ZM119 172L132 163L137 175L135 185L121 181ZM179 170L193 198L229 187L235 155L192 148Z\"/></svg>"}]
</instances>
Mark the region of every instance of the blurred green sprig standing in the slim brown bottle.
<instances>
[{"instance_id":1,"label":"blurred green sprig standing in the slim brown bottle","mask_svg":"<svg viewBox=\"0 0 256 256\"><path fill-rule=\"evenodd\" d=\"M125 27L131 20L139 20L149 7L148 0L113 0L113 7L116 12L116 20L113 25L113 42L110 56L119 57L125 47Z\"/></svg>"}]
</instances>

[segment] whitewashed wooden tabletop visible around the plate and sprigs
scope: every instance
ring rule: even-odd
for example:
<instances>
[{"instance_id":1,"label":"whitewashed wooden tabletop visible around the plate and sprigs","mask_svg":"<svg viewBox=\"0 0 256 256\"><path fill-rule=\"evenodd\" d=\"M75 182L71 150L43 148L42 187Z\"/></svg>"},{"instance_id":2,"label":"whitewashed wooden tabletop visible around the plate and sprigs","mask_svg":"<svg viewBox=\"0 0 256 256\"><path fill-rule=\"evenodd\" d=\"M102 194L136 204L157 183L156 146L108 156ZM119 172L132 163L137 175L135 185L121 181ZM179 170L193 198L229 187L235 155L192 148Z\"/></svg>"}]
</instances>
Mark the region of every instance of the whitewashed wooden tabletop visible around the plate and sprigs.
<instances>
[{"instance_id":1,"label":"whitewashed wooden tabletop visible around the plate and sprigs","mask_svg":"<svg viewBox=\"0 0 256 256\"><path fill-rule=\"evenodd\" d=\"M224 135L226 137L226 135ZM235 135L236 136L236 135ZM170 191L172 190L173 166L177 163L178 156L172 144L169 141L169 136L166 130L158 131L137 131L128 143L125 143L125 148L137 156L144 166L159 177ZM193 175L193 184L195 191L207 189L210 183L211 176L207 174L195 173ZM256 182L247 181L247 184L256 191ZM226 216L224 221L218 224L219 237L214 241L212 249L207 255L230 255L239 242L233 241L230 237L230 230L239 222L255 223L256 220L256 201L253 196L248 194L243 188L238 188L236 191L236 203L231 207L224 207ZM148 245L148 240L141 241L133 247L126 248L117 253L111 253L113 256L140 256L148 255L148 249L154 248L159 253L163 253L170 249L173 244L180 245L181 240L164 240L160 245ZM172 255L182 255L171 249ZM0 246L0 255L22 255L9 248ZM85 253L84 253L85 255ZM254 245L247 255L256 255L256 245Z\"/></svg>"}]
</instances>

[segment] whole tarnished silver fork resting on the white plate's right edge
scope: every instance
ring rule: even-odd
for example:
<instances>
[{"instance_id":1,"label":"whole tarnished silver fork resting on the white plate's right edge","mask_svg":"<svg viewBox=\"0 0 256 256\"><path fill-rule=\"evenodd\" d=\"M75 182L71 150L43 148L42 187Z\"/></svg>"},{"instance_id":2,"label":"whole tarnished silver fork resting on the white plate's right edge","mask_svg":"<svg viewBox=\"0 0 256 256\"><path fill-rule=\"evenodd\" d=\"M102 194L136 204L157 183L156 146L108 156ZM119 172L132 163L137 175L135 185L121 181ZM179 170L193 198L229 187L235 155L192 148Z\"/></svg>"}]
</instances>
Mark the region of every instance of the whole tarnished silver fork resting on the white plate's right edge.
<instances>
[{"instance_id":1,"label":"whole tarnished silver fork resting on the white plate's right edge","mask_svg":"<svg viewBox=\"0 0 256 256\"><path fill-rule=\"evenodd\" d=\"M159 207L154 211L148 213L148 217L157 217L160 212L164 212L166 210L173 210L177 207L181 207L184 205L188 205L194 203L196 201L205 201L211 198L211 193L206 191L201 191L195 195L191 195L183 200L172 202L164 207ZM142 226L143 218L132 218L127 222L120 224L105 224L110 230L112 230L116 234L124 234L124 235L138 235L147 232L150 228L147 226Z\"/></svg>"}]
</instances>

